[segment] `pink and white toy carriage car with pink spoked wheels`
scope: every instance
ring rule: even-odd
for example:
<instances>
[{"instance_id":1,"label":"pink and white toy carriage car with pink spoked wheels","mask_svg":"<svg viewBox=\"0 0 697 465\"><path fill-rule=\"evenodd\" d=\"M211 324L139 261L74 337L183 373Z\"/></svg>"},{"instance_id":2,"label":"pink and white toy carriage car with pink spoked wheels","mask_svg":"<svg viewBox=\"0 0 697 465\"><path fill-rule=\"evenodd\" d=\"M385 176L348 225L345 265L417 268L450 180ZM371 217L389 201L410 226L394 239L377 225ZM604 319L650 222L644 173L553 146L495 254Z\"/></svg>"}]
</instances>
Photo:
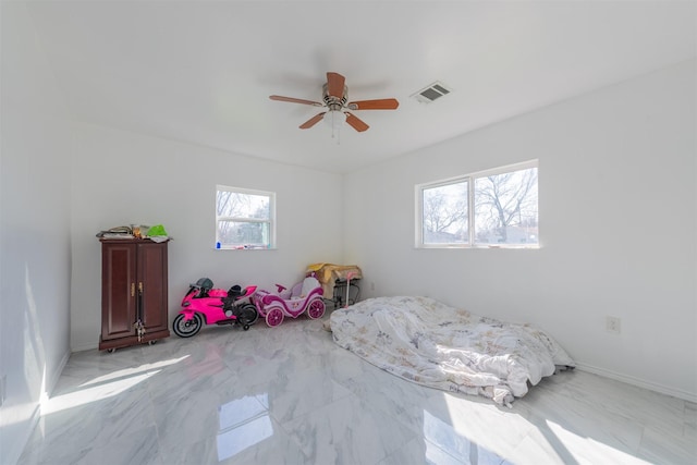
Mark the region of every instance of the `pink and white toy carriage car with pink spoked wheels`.
<instances>
[{"instance_id":1,"label":"pink and white toy carriage car with pink spoked wheels","mask_svg":"<svg viewBox=\"0 0 697 465\"><path fill-rule=\"evenodd\" d=\"M276 327L283 322L283 317L297 318L305 310L307 316L317 319L325 315L322 286L317 278L308 277L298 282L291 290L276 284L277 294L259 290L252 297L259 314L266 318L266 323Z\"/></svg>"}]
</instances>

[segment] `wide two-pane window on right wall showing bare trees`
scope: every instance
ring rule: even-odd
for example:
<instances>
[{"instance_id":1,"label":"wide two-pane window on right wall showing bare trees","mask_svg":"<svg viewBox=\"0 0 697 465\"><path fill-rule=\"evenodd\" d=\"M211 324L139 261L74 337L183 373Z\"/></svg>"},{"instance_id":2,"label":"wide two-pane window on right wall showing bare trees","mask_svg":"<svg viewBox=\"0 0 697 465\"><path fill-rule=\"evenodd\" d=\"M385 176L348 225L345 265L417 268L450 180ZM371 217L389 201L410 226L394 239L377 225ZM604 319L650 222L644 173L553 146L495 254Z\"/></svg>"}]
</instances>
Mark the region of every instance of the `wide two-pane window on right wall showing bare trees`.
<instances>
[{"instance_id":1,"label":"wide two-pane window on right wall showing bare trees","mask_svg":"<svg viewBox=\"0 0 697 465\"><path fill-rule=\"evenodd\" d=\"M417 247L538 246L537 164L417 185Z\"/></svg>"}]
</instances>

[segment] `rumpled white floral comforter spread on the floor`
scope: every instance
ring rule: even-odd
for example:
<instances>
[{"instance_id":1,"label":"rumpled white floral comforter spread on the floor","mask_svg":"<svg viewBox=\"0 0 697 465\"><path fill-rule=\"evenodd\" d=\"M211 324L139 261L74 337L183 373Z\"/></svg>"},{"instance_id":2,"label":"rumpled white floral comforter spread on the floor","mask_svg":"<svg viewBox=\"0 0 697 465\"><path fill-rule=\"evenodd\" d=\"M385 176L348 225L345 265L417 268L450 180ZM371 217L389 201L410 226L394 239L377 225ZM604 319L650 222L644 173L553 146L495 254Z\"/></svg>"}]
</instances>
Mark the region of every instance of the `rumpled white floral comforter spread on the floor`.
<instances>
[{"instance_id":1,"label":"rumpled white floral comforter spread on the floor","mask_svg":"<svg viewBox=\"0 0 697 465\"><path fill-rule=\"evenodd\" d=\"M334 310L333 340L377 367L445 391L510 405L575 364L543 331L449 307L429 297L378 297Z\"/></svg>"}]
</instances>

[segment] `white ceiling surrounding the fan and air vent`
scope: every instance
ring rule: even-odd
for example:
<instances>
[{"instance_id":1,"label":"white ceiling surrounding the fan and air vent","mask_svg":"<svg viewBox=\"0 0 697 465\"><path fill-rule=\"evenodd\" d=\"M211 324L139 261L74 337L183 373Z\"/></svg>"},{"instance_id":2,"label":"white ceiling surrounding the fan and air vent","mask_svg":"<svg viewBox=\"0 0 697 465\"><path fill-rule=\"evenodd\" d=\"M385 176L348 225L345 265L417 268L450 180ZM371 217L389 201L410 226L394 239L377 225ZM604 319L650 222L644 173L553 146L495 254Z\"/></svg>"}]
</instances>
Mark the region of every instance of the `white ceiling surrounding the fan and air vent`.
<instances>
[{"instance_id":1,"label":"white ceiling surrounding the fan and air vent","mask_svg":"<svg viewBox=\"0 0 697 465\"><path fill-rule=\"evenodd\" d=\"M694 1L30 2L76 120L347 172L696 56ZM340 139L326 73L370 129ZM409 96L435 81L454 91Z\"/></svg>"}]
</instances>

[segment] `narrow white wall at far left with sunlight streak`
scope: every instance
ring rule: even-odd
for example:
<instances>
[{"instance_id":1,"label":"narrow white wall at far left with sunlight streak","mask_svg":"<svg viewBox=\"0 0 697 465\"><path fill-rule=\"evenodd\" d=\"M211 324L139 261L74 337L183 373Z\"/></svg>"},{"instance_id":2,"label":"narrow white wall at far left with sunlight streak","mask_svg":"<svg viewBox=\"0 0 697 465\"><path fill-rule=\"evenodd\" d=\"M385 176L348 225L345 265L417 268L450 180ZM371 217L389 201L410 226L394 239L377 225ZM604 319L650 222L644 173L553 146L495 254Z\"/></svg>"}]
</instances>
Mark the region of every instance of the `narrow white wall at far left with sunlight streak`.
<instances>
[{"instance_id":1,"label":"narrow white wall at far left with sunlight streak","mask_svg":"<svg viewBox=\"0 0 697 465\"><path fill-rule=\"evenodd\" d=\"M0 463L14 463L70 355L72 131L23 2L1 2Z\"/></svg>"}]
</instances>

